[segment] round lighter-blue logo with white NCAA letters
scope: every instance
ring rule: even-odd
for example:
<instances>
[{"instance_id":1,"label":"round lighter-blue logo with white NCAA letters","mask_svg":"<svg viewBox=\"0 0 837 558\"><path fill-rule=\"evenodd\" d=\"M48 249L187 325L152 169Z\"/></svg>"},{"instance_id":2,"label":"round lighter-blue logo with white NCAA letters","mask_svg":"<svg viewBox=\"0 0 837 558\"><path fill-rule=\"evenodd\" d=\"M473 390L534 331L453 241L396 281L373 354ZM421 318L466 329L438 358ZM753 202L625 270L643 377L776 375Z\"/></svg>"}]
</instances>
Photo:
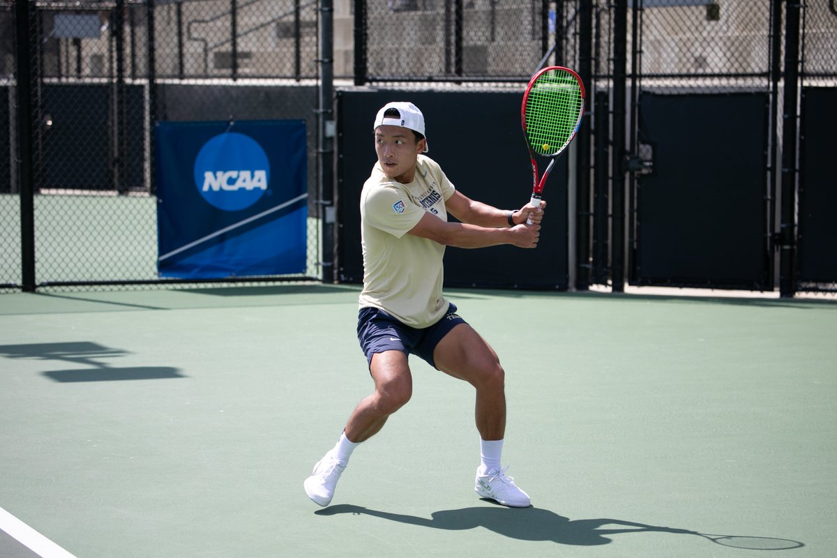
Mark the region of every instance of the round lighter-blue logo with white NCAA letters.
<instances>
[{"instance_id":1,"label":"round lighter-blue logo with white NCAA letters","mask_svg":"<svg viewBox=\"0 0 837 558\"><path fill-rule=\"evenodd\" d=\"M195 157L195 186L223 211L239 211L259 201L270 180L270 163L259 143L237 132L207 141Z\"/></svg>"}]
</instances>

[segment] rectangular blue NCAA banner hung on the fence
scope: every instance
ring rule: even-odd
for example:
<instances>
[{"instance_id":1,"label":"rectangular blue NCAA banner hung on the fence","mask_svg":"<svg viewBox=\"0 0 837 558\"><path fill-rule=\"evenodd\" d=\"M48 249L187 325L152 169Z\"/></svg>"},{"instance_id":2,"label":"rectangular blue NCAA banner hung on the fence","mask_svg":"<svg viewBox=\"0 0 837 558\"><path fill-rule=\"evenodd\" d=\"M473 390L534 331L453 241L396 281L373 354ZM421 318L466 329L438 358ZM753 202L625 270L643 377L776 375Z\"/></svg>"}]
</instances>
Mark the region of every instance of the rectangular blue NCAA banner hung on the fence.
<instances>
[{"instance_id":1,"label":"rectangular blue NCAA banner hung on the fence","mask_svg":"<svg viewBox=\"0 0 837 558\"><path fill-rule=\"evenodd\" d=\"M159 122L157 273L306 270L305 120Z\"/></svg>"}]
</instances>

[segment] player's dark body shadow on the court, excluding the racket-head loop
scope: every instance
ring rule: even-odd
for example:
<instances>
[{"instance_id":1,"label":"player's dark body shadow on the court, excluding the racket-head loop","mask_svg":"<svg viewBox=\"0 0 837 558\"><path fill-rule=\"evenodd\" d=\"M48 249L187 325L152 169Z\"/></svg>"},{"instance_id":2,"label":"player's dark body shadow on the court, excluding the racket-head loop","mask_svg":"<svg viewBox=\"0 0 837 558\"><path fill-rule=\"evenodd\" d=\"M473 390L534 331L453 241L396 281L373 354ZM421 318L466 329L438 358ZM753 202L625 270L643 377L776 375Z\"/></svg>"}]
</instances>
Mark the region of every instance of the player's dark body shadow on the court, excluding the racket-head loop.
<instances>
[{"instance_id":1,"label":"player's dark body shadow on the court, excluding the racket-head loop","mask_svg":"<svg viewBox=\"0 0 837 558\"><path fill-rule=\"evenodd\" d=\"M671 529L656 525L644 525L633 521L600 518L595 520L570 520L548 509L507 509L499 506L445 509L431 514L431 518L393 514L356 505L338 504L315 512L317 515L356 514L372 515L383 520L398 521L431 529L469 530L484 527L498 535L520 540L552 540L561 545L607 545L608 535L620 533L676 533L693 534L683 529ZM614 528L601 529L605 525Z\"/></svg>"}]
</instances>

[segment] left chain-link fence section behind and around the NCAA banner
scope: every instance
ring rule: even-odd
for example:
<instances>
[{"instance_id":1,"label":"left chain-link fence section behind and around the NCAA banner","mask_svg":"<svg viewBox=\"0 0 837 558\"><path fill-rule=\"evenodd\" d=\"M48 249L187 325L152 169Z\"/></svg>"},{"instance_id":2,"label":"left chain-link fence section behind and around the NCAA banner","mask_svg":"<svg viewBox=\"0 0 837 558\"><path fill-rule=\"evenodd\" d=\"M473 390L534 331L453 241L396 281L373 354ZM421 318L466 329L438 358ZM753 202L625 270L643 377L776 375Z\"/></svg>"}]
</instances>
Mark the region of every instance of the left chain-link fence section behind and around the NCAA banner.
<instances>
[{"instance_id":1,"label":"left chain-link fence section behind and around the NCAA banner","mask_svg":"<svg viewBox=\"0 0 837 558\"><path fill-rule=\"evenodd\" d=\"M0 4L0 284L22 281L25 177L12 163L24 141L37 284L161 280L153 154L162 121L304 120L307 263L298 277L321 277L315 2L28 2L26 22L16 8ZM14 38L23 38L17 59L28 83L18 83ZM22 87L31 105L24 141Z\"/></svg>"}]
</instances>

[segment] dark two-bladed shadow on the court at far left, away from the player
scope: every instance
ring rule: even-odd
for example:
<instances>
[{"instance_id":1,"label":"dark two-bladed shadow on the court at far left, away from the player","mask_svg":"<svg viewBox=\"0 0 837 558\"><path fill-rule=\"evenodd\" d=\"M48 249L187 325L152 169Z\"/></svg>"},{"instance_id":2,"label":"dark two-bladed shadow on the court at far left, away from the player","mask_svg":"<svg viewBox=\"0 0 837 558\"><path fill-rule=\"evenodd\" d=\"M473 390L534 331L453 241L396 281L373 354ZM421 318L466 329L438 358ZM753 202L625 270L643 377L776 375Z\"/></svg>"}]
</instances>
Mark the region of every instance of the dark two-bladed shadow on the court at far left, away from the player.
<instances>
[{"instance_id":1,"label":"dark two-bladed shadow on the court at far left, away from the player","mask_svg":"<svg viewBox=\"0 0 837 558\"><path fill-rule=\"evenodd\" d=\"M120 381L120 380L160 380L182 378L177 368L172 366L131 366L115 367L103 361L128 355L128 351L111 349L90 341L70 343L29 343L26 345L0 346L0 356L11 359L32 359L37 361L71 362L90 368L71 370L44 371L42 374L51 380L71 381Z\"/></svg>"}]
</instances>

